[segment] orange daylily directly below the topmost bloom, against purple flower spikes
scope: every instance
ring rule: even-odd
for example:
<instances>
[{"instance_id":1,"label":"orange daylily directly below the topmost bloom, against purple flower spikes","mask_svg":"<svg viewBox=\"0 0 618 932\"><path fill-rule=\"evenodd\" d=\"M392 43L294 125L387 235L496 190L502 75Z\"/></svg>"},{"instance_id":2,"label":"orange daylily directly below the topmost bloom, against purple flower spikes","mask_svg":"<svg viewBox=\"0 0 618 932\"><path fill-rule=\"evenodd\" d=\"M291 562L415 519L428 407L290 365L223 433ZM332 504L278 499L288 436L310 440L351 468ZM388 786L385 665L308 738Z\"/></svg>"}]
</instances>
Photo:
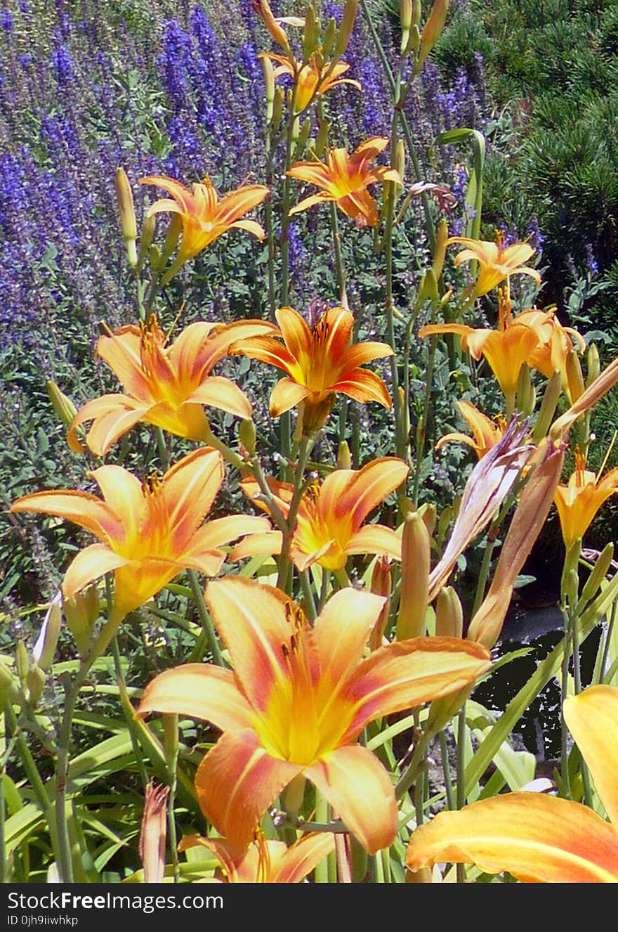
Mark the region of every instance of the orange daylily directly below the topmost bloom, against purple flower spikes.
<instances>
[{"instance_id":1,"label":"orange daylily directly below the topmost bloom, against purple flower spikes","mask_svg":"<svg viewBox=\"0 0 618 932\"><path fill-rule=\"evenodd\" d=\"M356 221L356 226L377 226L378 208L367 190L368 186L384 181L403 184L401 175L393 168L369 168L387 144L386 137L372 136L361 143L352 155L347 149L330 149L326 165L323 162L295 162L287 172L290 178L298 178L324 190L302 199L291 209L289 216L306 211L315 204L334 200L346 216Z\"/></svg>"}]
</instances>

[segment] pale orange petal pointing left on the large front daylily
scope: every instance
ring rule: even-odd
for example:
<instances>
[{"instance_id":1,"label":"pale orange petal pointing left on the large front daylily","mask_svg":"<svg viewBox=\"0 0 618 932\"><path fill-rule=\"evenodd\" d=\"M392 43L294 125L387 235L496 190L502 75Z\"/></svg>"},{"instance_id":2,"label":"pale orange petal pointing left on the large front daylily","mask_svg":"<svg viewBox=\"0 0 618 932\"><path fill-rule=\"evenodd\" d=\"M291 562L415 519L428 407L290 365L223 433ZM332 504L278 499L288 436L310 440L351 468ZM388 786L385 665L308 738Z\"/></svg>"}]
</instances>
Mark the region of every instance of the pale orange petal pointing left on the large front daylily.
<instances>
[{"instance_id":1,"label":"pale orange petal pointing left on the large front daylily","mask_svg":"<svg viewBox=\"0 0 618 932\"><path fill-rule=\"evenodd\" d=\"M251 706L231 670L210 664L185 664L150 681L138 715L149 712L188 715L226 730L249 728Z\"/></svg>"}]
</instances>

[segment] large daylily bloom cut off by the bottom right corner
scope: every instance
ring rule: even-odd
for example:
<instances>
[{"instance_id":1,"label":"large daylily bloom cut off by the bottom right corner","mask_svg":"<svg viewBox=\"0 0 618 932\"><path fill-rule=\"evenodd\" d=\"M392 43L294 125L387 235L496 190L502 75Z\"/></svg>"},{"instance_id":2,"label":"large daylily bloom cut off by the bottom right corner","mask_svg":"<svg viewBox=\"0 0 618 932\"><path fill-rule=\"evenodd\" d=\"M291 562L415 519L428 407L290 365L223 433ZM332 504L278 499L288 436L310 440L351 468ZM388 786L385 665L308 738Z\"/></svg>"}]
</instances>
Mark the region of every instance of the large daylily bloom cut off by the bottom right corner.
<instances>
[{"instance_id":1,"label":"large daylily bloom cut off by the bottom right corner","mask_svg":"<svg viewBox=\"0 0 618 932\"><path fill-rule=\"evenodd\" d=\"M410 870L474 862L526 884L618 883L618 689L591 686L565 701L564 717L611 823L580 802L504 793L416 829Z\"/></svg>"}]
</instances>

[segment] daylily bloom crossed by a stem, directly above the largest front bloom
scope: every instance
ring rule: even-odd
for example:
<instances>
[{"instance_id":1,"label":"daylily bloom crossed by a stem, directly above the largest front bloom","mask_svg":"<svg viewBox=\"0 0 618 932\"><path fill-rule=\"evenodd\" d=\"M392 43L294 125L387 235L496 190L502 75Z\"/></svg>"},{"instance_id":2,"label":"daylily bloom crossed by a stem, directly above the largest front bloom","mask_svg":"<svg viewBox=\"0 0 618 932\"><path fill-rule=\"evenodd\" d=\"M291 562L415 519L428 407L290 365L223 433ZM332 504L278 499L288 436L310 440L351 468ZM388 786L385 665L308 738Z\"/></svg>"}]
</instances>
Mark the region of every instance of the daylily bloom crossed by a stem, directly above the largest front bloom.
<instances>
[{"instance_id":1,"label":"daylily bloom crossed by a stem, directly above the largest front bloom","mask_svg":"<svg viewBox=\"0 0 618 932\"><path fill-rule=\"evenodd\" d=\"M289 556L298 569L319 563L324 569L343 569L352 554L386 554L401 559L401 538L383 525L363 525L363 521L387 495L400 486L408 475L402 459L382 457L362 469L338 469L324 480L316 481L302 494ZM244 479L243 491L255 500L259 486L254 479ZM276 504L288 517L293 487L271 479ZM260 501L256 502L261 505ZM265 507L261 505L261 507ZM362 526L362 527L361 527ZM247 546L241 543L232 559L249 555L280 554L283 535L280 530L253 535Z\"/></svg>"}]
</instances>

